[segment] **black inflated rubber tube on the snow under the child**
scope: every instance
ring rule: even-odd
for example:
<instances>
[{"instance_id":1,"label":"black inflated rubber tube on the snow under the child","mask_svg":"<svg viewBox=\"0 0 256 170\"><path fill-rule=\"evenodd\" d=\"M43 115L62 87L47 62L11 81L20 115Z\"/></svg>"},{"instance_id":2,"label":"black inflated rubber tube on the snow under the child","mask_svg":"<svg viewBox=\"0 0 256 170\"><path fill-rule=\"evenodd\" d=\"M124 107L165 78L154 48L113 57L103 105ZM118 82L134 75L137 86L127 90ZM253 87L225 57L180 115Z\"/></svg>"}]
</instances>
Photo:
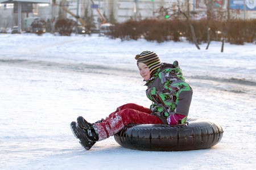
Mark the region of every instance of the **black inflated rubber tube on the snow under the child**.
<instances>
[{"instance_id":1,"label":"black inflated rubber tube on the snow under the child","mask_svg":"<svg viewBox=\"0 0 256 170\"><path fill-rule=\"evenodd\" d=\"M222 127L209 118L189 118L187 125L131 124L114 138L123 147L144 151L186 151L210 148L221 141Z\"/></svg>"}]
</instances>

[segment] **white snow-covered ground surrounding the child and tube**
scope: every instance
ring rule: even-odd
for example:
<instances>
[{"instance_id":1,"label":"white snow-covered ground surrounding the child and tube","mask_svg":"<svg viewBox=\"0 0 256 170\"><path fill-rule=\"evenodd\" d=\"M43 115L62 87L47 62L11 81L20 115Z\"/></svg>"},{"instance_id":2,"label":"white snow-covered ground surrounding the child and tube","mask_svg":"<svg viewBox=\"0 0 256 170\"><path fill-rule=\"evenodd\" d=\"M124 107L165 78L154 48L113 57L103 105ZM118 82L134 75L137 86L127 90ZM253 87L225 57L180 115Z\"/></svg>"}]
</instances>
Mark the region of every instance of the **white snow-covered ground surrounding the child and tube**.
<instances>
[{"instance_id":1,"label":"white snow-covered ground surrounding the child and tube","mask_svg":"<svg viewBox=\"0 0 256 170\"><path fill-rule=\"evenodd\" d=\"M256 169L256 45L0 35L0 169ZM125 103L149 107L136 54L179 61L193 88L189 117L220 122L206 150L152 152L113 137L85 151L69 124L94 122Z\"/></svg>"}]
</instances>

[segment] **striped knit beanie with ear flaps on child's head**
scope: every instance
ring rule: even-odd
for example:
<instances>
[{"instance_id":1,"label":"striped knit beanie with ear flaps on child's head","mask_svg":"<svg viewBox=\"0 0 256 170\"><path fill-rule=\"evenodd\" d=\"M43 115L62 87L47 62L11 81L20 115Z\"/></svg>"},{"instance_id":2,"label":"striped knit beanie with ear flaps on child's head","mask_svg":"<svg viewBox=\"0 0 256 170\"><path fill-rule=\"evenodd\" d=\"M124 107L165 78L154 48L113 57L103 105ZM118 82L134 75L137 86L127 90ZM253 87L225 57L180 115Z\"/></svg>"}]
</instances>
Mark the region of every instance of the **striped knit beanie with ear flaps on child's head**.
<instances>
[{"instance_id":1,"label":"striped knit beanie with ear flaps on child's head","mask_svg":"<svg viewBox=\"0 0 256 170\"><path fill-rule=\"evenodd\" d=\"M160 67L160 59L154 52L144 51L141 54L136 55L137 65L139 62L144 63L150 69L150 75L154 74Z\"/></svg>"}]
</instances>

